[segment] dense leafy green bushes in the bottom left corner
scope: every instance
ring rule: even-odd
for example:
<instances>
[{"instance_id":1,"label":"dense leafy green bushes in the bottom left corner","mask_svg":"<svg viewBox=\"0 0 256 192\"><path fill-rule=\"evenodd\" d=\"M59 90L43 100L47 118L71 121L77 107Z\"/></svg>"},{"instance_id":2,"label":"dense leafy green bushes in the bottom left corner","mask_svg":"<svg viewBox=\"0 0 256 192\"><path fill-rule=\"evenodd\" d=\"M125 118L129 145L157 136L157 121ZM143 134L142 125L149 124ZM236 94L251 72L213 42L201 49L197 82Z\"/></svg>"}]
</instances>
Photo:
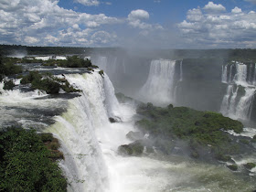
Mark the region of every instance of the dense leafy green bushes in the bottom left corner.
<instances>
[{"instance_id":1,"label":"dense leafy green bushes in the bottom left corner","mask_svg":"<svg viewBox=\"0 0 256 192\"><path fill-rule=\"evenodd\" d=\"M0 191L67 191L42 137L22 128L0 132Z\"/></svg>"}]
</instances>

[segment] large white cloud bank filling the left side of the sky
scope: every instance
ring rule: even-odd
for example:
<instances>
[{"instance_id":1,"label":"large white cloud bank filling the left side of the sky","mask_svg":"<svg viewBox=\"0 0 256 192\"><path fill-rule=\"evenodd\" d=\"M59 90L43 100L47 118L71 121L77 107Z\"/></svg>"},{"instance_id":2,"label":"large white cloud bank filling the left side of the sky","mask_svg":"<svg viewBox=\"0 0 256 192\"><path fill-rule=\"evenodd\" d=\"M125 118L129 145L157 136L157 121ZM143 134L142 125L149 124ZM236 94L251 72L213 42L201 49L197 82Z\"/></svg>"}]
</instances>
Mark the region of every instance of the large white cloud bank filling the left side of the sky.
<instances>
[{"instance_id":1,"label":"large white cloud bank filling the left side of the sky","mask_svg":"<svg viewBox=\"0 0 256 192\"><path fill-rule=\"evenodd\" d=\"M96 5L96 1L87 2ZM91 15L61 8L56 0L2 0L0 20L1 43L30 45L56 43L61 46L65 46L66 42L73 46L93 45L93 39L90 37L93 33L88 35L80 27L95 32L102 30L100 27L104 25L118 25L125 22L123 19L104 14ZM80 40L67 40L63 36L78 37Z\"/></svg>"}]
</instances>

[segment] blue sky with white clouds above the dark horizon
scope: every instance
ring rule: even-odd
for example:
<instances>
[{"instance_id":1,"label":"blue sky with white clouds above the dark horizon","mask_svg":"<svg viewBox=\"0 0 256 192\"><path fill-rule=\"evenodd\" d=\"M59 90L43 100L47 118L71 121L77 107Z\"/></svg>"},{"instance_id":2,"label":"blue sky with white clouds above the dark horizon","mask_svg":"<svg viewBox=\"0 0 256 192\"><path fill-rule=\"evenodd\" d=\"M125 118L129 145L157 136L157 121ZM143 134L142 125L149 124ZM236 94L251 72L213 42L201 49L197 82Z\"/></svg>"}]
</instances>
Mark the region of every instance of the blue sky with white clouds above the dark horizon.
<instances>
[{"instance_id":1,"label":"blue sky with white clouds above the dark horizon","mask_svg":"<svg viewBox=\"0 0 256 192\"><path fill-rule=\"evenodd\" d=\"M256 0L0 0L0 44L256 48Z\"/></svg>"}]
</instances>

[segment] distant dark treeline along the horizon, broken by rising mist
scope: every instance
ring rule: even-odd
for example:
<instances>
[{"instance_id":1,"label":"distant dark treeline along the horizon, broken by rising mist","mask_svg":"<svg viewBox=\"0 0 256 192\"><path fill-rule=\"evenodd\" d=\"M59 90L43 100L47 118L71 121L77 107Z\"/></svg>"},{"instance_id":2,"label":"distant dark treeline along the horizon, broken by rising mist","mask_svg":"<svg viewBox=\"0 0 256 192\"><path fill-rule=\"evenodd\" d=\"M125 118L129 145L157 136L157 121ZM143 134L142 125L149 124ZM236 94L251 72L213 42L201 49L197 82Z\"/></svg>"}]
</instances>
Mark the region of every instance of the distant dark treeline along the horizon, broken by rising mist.
<instances>
[{"instance_id":1,"label":"distant dark treeline along the horizon, broken by rising mist","mask_svg":"<svg viewBox=\"0 0 256 192\"><path fill-rule=\"evenodd\" d=\"M67 55L91 53L124 53L123 48L75 48L75 47L28 47L21 45L0 45L0 54L4 56L17 53L26 55ZM256 48L222 48L222 49L152 49L136 51L136 54L144 57L160 57L165 59L195 59L195 58L219 58L256 61Z\"/></svg>"}]
</instances>

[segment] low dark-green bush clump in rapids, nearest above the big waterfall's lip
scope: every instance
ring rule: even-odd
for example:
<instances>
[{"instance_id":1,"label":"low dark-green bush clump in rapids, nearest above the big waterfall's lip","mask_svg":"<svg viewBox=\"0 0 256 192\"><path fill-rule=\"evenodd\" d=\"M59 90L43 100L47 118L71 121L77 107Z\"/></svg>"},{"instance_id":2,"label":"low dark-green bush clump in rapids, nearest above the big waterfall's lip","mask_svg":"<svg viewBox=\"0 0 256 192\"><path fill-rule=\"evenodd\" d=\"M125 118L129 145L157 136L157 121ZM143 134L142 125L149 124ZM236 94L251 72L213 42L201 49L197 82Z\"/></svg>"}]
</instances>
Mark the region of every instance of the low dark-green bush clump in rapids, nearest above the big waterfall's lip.
<instances>
[{"instance_id":1,"label":"low dark-green bush clump in rapids, nearest above the big waterfall's lip","mask_svg":"<svg viewBox=\"0 0 256 192\"><path fill-rule=\"evenodd\" d=\"M56 78L51 73L40 74L37 70L29 71L27 76L20 80L20 83L31 83L32 89L43 90L48 94L57 94L60 88L66 92L80 91L73 88L68 80Z\"/></svg>"}]
</instances>

